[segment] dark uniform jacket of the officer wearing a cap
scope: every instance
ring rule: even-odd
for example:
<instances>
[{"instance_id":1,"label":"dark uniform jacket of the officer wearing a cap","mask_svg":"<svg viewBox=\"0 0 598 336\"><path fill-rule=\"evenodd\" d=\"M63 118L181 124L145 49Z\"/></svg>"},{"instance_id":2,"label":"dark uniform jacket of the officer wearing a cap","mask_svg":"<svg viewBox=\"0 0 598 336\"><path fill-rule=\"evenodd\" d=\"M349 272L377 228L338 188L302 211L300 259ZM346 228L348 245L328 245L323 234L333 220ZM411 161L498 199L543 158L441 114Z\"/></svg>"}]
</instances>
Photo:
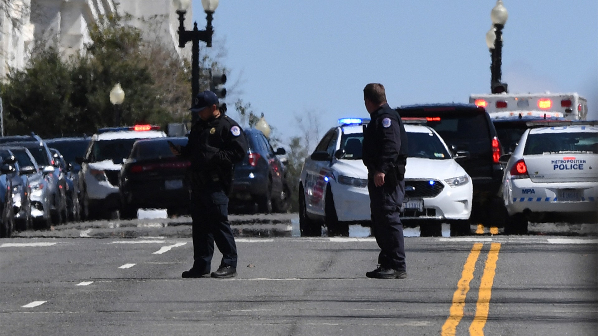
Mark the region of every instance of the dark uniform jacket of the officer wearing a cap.
<instances>
[{"instance_id":1,"label":"dark uniform jacket of the officer wearing a cap","mask_svg":"<svg viewBox=\"0 0 598 336\"><path fill-rule=\"evenodd\" d=\"M193 187L220 187L226 193L233 181L234 164L247 154L243 130L236 121L221 114L199 120L191 127L181 155L190 158Z\"/></svg>"}]
</instances>

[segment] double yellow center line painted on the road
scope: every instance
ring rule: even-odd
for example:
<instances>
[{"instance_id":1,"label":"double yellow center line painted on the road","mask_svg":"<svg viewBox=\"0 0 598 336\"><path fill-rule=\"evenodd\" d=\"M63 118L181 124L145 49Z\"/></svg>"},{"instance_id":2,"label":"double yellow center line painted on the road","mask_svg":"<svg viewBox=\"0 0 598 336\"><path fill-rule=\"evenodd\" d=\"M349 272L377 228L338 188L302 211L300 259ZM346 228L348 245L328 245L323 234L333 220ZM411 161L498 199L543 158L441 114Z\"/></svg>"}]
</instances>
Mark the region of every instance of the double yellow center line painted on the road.
<instances>
[{"instance_id":1,"label":"double yellow center line painted on the road","mask_svg":"<svg viewBox=\"0 0 598 336\"><path fill-rule=\"evenodd\" d=\"M465 298L469 292L469 282L474 279L475 263L480 256L483 243L475 243L469 252L467 261L463 265L463 272L461 279L457 282L457 290L453 294L453 304L450 307L450 316L444 322L441 332L442 336L453 336L456 332L457 325L463 318L463 308L465 307ZM475 306L475 317L469 326L469 335L483 336L484 326L488 319L488 311L490 307L490 295L492 293L492 285L494 283L494 276L496 271L496 261L498 261L498 251L501 249L501 243L492 243L490 245L490 252L486 259L486 266L482 274L480 282L480 291L478 293L478 302Z\"/></svg>"}]
</instances>

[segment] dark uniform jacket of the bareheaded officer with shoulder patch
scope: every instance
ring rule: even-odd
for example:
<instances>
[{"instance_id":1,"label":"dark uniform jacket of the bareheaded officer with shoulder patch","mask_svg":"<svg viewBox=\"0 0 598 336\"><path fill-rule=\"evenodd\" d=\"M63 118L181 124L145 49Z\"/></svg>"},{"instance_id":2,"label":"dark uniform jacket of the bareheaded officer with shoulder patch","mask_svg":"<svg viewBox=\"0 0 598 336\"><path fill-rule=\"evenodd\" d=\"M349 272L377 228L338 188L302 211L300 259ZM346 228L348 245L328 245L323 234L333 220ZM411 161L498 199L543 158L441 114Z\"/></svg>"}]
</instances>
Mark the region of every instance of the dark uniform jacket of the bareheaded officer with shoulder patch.
<instances>
[{"instance_id":1,"label":"dark uniform jacket of the bareheaded officer with shoulder patch","mask_svg":"<svg viewBox=\"0 0 598 336\"><path fill-rule=\"evenodd\" d=\"M396 173L401 181L407 164L407 133L398 112L385 103L371 114L371 121L364 128L363 161L368 176L376 172L389 176Z\"/></svg>"}]
</instances>

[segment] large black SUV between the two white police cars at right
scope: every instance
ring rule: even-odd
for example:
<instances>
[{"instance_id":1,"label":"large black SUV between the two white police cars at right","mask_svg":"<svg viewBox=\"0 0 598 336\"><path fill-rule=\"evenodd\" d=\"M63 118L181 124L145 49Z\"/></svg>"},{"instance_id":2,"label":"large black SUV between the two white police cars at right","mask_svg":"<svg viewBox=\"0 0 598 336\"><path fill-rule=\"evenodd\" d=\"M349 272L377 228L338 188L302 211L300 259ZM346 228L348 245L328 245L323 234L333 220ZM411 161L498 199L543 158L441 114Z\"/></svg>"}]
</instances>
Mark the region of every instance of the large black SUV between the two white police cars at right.
<instances>
[{"instance_id":1,"label":"large black SUV between the two white police cars at right","mask_svg":"<svg viewBox=\"0 0 598 336\"><path fill-rule=\"evenodd\" d=\"M501 142L483 107L447 103L401 106L396 109L405 123L423 122L432 127L457 154L459 164L471 176L474 196L471 218L474 224L504 227L506 209L502 201L503 167ZM471 233L469 225L451 225L451 235Z\"/></svg>"}]
</instances>

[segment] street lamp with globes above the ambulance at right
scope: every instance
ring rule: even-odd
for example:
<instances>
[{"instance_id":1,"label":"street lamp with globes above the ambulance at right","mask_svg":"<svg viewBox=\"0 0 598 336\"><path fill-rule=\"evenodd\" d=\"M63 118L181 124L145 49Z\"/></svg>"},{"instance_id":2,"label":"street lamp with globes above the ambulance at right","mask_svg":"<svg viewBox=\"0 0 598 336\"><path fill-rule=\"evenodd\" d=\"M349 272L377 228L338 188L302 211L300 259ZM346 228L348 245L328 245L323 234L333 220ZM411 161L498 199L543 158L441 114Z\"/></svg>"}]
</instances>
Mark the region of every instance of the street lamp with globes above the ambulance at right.
<instances>
[{"instance_id":1,"label":"street lamp with globes above the ambulance at right","mask_svg":"<svg viewBox=\"0 0 598 336\"><path fill-rule=\"evenodd\" d=\"M492 55L492 64L490 65L490 74L492 75L490 90L492 93L508 92L507 83L501 83L502 29L505 28L508 17L507 8L502 4L502 0L496 1L495 7L490 12L492 28L486 33L486 45Z\"/></svg>"}]
</instances>

